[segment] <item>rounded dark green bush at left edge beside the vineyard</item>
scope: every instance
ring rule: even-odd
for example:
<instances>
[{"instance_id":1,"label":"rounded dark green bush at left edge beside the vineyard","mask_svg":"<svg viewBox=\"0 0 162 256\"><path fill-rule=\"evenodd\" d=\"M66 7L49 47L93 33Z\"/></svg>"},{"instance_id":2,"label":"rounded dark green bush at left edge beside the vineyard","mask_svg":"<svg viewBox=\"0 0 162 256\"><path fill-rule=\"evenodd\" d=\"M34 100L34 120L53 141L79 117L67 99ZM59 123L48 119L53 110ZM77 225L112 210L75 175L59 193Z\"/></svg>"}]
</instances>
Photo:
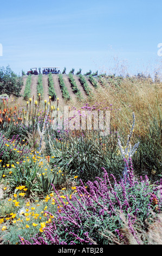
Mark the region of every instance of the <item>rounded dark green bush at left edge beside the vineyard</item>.
<instances>
[{"instance_id":1,"label":"rounded dark green bush at left edge beside the vineyard","mask_svg":"<svg viewBox=\"0 0 162 256\"><path fill-rule=\"evenodd\" d=\"M20 96L23 86L22 78L18 77L9 66L0 67L0 92L1 94Z\"/></svg>"}]
</instances>

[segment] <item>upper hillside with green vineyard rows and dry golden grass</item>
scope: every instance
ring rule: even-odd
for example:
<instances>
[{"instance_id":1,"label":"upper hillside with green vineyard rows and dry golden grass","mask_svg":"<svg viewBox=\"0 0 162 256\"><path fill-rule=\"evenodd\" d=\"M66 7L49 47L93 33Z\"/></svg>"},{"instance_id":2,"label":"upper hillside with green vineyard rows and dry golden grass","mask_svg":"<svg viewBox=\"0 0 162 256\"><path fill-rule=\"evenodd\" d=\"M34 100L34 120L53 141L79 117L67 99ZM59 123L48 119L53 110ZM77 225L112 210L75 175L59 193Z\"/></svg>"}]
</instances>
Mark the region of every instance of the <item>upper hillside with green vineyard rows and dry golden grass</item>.
<instances>
[{"instance_id":1,"label":"upper hillside with green vineyard rows and dry golden grass","mask_svg":"<svg viewBox=\"0 0 162 256\"><path fill-rule=\"evenodd\" d=\"M42 76L44 100L49 99L49 75ZM60 78L59 78L60 77ZM28 76L23 76L24 86ZM31 76L30 97L37 100L37 82L38 76ZM100 75L96 77L85 75L51 75L52 96L55 94L55 100L52 105L57 106L59 98L59 109L63 106L81 108L85 103L90 106L95 105L96 109L108 109L111 111L111 122L114 129L125 125L131 121L132 112L134 112L137 124L136 132L144 133L150 117L160 116L161 112L161 83L153 81L150 77L121 77L114 75ZM26 100L23 97L18 99L20 105L26 107ZM157 117L159 119L159 117Z\"/></svg>"}]
</instances>

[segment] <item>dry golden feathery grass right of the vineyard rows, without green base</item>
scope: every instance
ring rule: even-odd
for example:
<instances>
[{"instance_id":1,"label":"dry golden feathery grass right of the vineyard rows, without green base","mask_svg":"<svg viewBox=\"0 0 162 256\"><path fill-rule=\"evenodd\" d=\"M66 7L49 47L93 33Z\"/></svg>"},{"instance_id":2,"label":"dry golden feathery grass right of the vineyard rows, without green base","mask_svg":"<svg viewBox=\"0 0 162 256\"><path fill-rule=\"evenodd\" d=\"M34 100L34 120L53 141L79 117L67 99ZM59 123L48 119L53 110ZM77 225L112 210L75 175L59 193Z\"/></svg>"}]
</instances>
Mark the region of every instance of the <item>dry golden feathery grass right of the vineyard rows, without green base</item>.
<instances>
[{"instance_id":1,"label":"dry golden feathery grass right of the vineyard rows, without green base","mask_svg":"<svg viewBox=\"0 0 162 256\"><path fill-rule=\"evenodd\" d=\"M127 131L128 124L132 121L132 112L135 114L135 133L145 135L150 121L157 117L160 121L162 83L152 83L151 80L137 80L136 78L124 78L119 86L114 81L109 84L108 79L102 78L106 87L99 88L93 102L100 99L103 106L112 104L112 124ZM114 109L120 109L120 113Z\"/></svg>"}]
</instances>

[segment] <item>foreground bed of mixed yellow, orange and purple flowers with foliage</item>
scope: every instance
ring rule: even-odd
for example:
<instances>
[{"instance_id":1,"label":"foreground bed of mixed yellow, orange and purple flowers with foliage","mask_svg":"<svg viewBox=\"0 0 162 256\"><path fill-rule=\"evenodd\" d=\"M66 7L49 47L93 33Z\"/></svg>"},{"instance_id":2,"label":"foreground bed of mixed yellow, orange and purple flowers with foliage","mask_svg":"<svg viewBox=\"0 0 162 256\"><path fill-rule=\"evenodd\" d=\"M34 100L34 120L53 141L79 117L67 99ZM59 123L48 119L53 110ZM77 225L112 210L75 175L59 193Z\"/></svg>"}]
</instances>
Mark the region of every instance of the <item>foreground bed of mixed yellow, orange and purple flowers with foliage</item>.
<instances>
[{"instance_id":1,"label":"foreground bed of mixed yellow, orange and purple flowers with foliage","mask_svg":"<svg viewBox=\"0 0 162 256\"><path fill-rule=\"evenodd\" d=\"M135 173L140 144L131 147L134 115L126 144L116 131L104 139L94 131L55 132L51 124L59 99L56 110L49 100L40 111L40 97L35 103L33 99L33 107L30 99L24 110L12 111L3 101L1 243L148 244L147 231L161 212L162 180L160 174L153 181L146 173ZM109 109L113 111L112 105ZM90 164L93 154L97 172Z\"/></svg>"}]
</instances>

